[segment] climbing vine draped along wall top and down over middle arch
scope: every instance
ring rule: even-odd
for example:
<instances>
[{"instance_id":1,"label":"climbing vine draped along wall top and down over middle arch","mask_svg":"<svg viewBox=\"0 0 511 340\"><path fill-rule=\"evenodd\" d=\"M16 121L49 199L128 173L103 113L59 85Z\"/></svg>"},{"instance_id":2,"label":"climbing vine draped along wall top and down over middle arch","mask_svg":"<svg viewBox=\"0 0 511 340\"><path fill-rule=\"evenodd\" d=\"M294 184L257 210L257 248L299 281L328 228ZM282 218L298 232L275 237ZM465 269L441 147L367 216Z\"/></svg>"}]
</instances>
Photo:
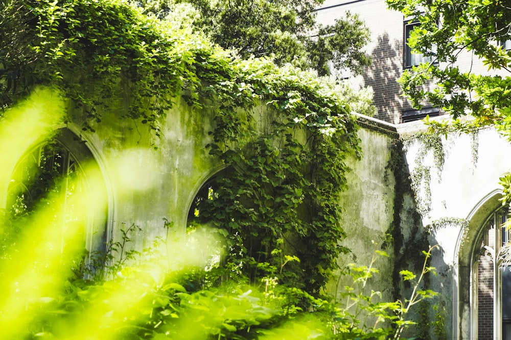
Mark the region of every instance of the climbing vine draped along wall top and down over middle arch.
<instances>
[{"instance_id":1,"label":"climbing vine draped along wall top and down over middle arch","mask_svg":"<svg viewBox=\"0 0 511 340\"><path fill-rule=\"evenodd\" d=\"M229 168L207 216L224 235L230 263L253 278L275 264L275 249L296 256L278 273L317 295L347 249L339 194L344 161L358 156L350 109L312 74L267 59L240 60L200 34L175 29L117 0L19 0L35 60L4 62L11 102L37 84L59 88L73 119L94 132L105 115L145 124L156 135L178 101L213 114L210 153ZM26 43L20 40L18 43ZM0 73L5 77L7 72ZM0 84L4 84L0 82ZM121 110L118 110L121 108ZM271 267L271 266L270 266Z\"/></svg>"}]
</instances>

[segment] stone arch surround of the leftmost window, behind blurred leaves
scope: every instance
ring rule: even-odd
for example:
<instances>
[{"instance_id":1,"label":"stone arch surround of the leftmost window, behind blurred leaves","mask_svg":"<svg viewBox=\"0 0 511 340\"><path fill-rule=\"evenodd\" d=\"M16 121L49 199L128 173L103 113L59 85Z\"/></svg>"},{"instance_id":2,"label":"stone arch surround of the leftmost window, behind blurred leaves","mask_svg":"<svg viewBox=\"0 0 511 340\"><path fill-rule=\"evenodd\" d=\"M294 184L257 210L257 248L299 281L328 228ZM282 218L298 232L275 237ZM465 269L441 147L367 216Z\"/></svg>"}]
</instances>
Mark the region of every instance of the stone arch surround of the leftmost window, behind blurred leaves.
<instances>
[{"instance_id":1,"label":"stone arch surround of the leftmost window, behind blurred leaves","mask_svg":"<svg viewBox=\"0 0 511 340\"><path fill-rule=\"evenodd\" d=\"M87 195L88 197L90 192L94 190L95 195L111 197L111 192L107 189L108 186L103 177L103 171L96 156L91 151L89 145L87 145L88 143L66 126L57 127L54 133L55 135L52 137L51 142L48 142L47 136L35 140L32 146L18 160L12 171L12 179L7 188L6 200L3 202L6 209L12 207L13 197L19 195L20 192L25 195L29 190L28 186L23 183L25 180L24 176L26 176L24 168L28 166L27 162L42 168L41 162L43 158L41 155L42 153L50 152L47 150L49 144L52 145L51 152L54 152L54 154L48 157L53 159L51 161L52 166L58 163L58 167L60 167L58 171L61 171L61 175L67 175L70 172L80 173L79 176L83 179L81 181L83 183L83 192L81 191L80 194ZM37 158L37 155L39 158ZM57 156L58 162L55 161ZM46 157L44 156L45 160ZM44 166L48 166L48 164ZM94 188L90 186L92 177L94 177ZM105 203L108 201L110 199L105 200ZM87 217L83 236L85 248L89 253L105 251L106 241L111 235L112 219L109 218L109 211L109 204L106 203L104 206L102 205L86 212Z\"/></svg>"}]
</instances>

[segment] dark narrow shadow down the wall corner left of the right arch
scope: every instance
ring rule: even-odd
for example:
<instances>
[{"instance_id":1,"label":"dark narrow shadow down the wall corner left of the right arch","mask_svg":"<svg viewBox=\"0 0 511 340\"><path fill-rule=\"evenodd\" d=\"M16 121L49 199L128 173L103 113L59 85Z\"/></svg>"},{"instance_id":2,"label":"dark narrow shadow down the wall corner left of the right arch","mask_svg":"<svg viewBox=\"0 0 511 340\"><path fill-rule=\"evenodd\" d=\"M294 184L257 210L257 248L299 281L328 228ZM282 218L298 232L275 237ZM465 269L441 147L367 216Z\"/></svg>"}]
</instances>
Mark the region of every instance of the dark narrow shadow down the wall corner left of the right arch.
<instances>
[{"instance_id":1,"label":"dark narrow shadow down the wall corner left of the right arch","mask_svg":"<svg viewBox=\"0 0 511 340\"><path fill-rule=\"evenodd\" d=\"M396 140L390 150L391 155L387 171L391 171L395 179L393 220L386 231L386 242L382 248L391 255L393 260L393 299L404 301L404 299L411 296L414 281L403 281L400 272L408 270L419 277L425 259L423 251L427 251L430 246L436 245L437 240L428 237L428 231L423 224L423 217L419 213L419 203L417 203L416 195L412 189L410 168L406 161L402 141ZM444 261L442 249L432 249L428 266L436 267L437 271L447 273L449 267ZM427 273L421 281L420 289L431 289L439 292L442 284L438 282L444 281L443 277L438 279L435 275ZM439 293L444 292L450 292L450 290ZM418 303L412 308L409 315L410 319L415 321L416 324L405 332L404 337L448 338L446 333L448 330L444 326L450 325L450 323L445 323L450 321L447 313L448 308L448 304L442 295ZM435 337L435 334L439 335Z\"/></svg>"}]
</instances>

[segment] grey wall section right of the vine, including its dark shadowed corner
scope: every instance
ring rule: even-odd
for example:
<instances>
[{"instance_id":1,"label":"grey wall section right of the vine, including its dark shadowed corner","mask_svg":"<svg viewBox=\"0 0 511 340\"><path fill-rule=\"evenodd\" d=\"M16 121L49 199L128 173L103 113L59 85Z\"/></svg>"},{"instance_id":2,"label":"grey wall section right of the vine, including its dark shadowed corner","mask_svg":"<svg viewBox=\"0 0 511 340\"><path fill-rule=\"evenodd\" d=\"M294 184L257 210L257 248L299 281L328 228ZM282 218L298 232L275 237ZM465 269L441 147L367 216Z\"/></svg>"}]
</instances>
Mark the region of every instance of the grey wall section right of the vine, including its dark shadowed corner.
<instances>
[{"instance_id":1,"label":"grey wall section right of the vine, including its dark shadowed corner","mask_svg":"<svg viewBox=\"0 0 511 340\"><path fill-rule=\"evenodd\" d=\"M422 252L429 248L410 180L406 148L398 134L399 126L365 117L359 119L359 124L362 158L351 161L349 189L340 200L344 209L342 224L347 234L342 244L351 249L349 255L339 260L340 271L350 263L369 266L377 250L385 251L389 256L377 255L373 266L379 273L368 281L365 293L381 292L381 298L375 298L375 302L404 301L410 296L411 288L399 272L410 270L420 274L424 263ZM431 283L427 276L421 287L429 287ZM328 290L341 301L340 292L345 285L352 285L350 277L337 273ZM431 309L428 305L422 308ZM429 336L427 313L415 308L408 318L419 321L410 336Z\"/></svg>"}]
</instances>

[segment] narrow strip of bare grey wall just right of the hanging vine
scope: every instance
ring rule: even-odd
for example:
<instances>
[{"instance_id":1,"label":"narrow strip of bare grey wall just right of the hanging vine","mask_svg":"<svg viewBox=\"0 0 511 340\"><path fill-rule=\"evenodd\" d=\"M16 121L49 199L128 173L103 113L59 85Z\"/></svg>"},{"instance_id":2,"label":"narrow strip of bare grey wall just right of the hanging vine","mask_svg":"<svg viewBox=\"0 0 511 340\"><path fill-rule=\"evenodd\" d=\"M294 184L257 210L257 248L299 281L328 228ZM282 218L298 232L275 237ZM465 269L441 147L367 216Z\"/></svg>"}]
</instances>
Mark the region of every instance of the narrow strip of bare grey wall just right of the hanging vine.
<instances>
[{"instance_id":1,"label":"narrow strip of bare grey wall just right of the hanging vine","mask_svg":"<svg viewBox=\"0 0 511 340\"><path fill-rule=\"evenodd\" d=\"M349 255L339 259L339 267L343 269L350 263L369 266L375 250L381 250L393 220L395 180L387 168L391 143L398 135L391 125L373 119L363 118L360 124L362 158L349 161L352 171L346 176L348 189L340 200L344 211L342 226L346 232L342 244L351 249ZM393 250L386 251L391 253ZM388 278L392 275L393 260L379 257L374 267L380 274L369 281L369 293L371 288L380 291L384 301L389 301L393 285ZM339 299L344 286L351 283L349 277L340 277L337 273L328 291Z\"/></svg>"}]
</instances>

